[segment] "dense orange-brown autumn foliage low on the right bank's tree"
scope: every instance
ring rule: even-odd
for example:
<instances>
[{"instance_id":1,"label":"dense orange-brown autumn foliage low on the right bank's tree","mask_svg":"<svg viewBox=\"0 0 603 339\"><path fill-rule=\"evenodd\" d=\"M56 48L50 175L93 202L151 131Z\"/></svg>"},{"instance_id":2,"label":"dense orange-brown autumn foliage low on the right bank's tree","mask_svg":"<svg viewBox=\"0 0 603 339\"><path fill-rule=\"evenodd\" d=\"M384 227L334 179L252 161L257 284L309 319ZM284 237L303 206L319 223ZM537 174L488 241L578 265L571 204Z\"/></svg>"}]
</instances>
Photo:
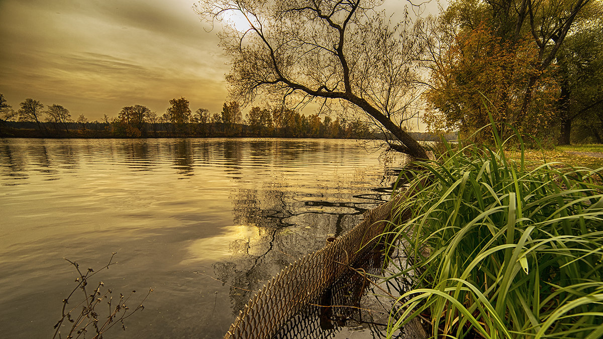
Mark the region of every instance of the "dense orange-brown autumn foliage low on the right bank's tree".
<instances>
[{"instance_id":1,"label":"dense orange-brown autumn foliage low on the right bank's tree","mask_svg":"<svg viewBox=\"0 0 603 339\"><path fill-rule=\"evenodd\" d=\"M454 39L431 72L432 87L425 93L429 105L425 122L431 130L458 129L469 137L490 122L488 112L501 124L504 135L513 133L512 128L505 130L506 124L531 135L549 127L558 85L551 70L545 74L538 71L535 44L528 39L504 41L484 22L473 30L461 31ZM538 75L539 80L529 109L520 113L532 75ZM518 120L522 124L517 124ZM485 141L489 136L487 127L473 139Z\"/></svg>"}]
</instances>

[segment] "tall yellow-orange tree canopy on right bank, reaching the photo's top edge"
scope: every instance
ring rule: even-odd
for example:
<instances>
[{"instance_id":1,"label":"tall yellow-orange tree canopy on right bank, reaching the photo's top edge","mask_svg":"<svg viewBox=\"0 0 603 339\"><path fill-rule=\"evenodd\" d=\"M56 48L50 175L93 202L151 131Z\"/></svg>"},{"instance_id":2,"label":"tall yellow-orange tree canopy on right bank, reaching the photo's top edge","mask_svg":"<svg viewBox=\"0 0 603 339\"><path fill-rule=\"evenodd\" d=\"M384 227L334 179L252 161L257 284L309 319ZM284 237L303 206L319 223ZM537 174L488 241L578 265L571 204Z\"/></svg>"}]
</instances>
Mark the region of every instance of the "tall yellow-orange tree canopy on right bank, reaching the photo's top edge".
<instances>
[{"instance_id":1,"label":"tall yellow-orange tree canopy on right bank, reaching the photo's top edge","mask_svg":"<svg viewBox=\"0 0 603 339\"><path fill-rule=\"evenodd\" d=\"M457 0L421 22L428 125L468 135L490 113L520 133L551 135L562 100L560 54L598 8L591 0Z\"/></svg>"}]
</instances>

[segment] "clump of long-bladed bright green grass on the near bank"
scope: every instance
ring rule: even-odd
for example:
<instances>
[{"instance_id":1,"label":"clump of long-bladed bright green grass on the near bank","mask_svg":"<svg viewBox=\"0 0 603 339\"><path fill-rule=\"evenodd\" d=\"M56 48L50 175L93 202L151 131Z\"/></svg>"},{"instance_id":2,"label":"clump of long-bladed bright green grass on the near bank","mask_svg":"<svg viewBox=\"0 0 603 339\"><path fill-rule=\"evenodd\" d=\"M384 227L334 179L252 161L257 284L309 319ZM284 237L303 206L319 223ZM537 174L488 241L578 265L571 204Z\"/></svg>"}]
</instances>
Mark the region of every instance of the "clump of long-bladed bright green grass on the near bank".
<instances>
[{"instance_id":1,"label":"clump of long-bladed bright green grass on the near bank","mask_svg":"<svg viewBox=\"0 0 603 339\"><path fill-rule=\"evenodd\" d=\"M421 166L390 230L408 255L390 279L410 277L390 337L417 316L433 338L603 337L603 168L527 166L499 140Z\"/></svg>"}]
</instances>

